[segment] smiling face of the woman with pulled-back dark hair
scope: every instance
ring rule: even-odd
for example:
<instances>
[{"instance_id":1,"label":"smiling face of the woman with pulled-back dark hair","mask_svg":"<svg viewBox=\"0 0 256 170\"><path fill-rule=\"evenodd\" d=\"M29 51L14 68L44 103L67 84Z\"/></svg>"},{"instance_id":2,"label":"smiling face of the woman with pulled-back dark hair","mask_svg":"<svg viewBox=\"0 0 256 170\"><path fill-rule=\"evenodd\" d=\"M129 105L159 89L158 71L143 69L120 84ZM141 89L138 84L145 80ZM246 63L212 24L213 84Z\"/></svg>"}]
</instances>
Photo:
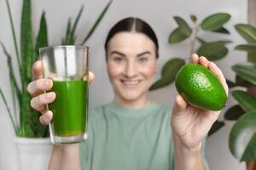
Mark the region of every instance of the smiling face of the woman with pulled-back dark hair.
<instances>
[{"instance_id":1,"label":"smiling face of the woman with pulled-back dark hair","mask_svg":"<svg viewBox=\"0 0 256 170\"><path fill-rule=\"evenodd\" d=\"M119 32L108 42L108 77L115 98L122 102L147 99L154 80L154 42L137 32Z\"/></svg>"}]
</instances>

